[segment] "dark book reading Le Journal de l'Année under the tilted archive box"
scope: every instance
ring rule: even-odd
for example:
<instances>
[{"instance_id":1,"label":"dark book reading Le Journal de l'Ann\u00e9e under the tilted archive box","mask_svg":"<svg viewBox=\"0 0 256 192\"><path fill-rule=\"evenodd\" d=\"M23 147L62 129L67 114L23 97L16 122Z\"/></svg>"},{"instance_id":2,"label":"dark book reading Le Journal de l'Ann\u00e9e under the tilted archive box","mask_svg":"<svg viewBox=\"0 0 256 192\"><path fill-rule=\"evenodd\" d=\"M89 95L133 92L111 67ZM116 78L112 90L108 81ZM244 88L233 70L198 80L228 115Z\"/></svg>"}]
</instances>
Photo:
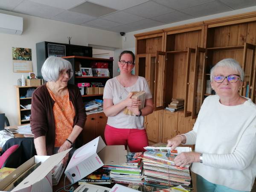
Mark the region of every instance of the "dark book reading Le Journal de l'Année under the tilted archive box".
<instances>
[{"instance_id":1,"label":"dark book reading Le Journal de l'Ann\u00e9e under the tilted archive box","mask_svg":"<svg viewBox=\"0 0 256 192\"><path fill-rule=\"evenodd\" d=\"M78 184L90 183L90 184L110 184L110 170L99 168L86 177L80 179Z\"/></svg>"}]
</instances>

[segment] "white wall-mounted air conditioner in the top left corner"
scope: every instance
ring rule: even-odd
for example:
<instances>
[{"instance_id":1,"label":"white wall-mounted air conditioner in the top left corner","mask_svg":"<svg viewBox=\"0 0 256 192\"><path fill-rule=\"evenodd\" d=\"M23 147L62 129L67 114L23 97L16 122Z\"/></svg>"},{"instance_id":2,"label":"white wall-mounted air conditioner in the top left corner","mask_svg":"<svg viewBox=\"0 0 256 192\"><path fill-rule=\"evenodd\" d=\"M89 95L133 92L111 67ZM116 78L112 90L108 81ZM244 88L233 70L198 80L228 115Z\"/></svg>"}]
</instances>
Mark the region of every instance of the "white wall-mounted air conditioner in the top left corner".
<instances>
[{"instance_id":1,"label":"white wall-mounted air conditioner in the top left corner","mask_svg":"<svg viewBox=\"0 0 256 192\"><path fill-rule=\"evenodd\" d=\"M23 31L23 17L0 13L0 33L21 35Z\"/></svg>"}]
</instances>

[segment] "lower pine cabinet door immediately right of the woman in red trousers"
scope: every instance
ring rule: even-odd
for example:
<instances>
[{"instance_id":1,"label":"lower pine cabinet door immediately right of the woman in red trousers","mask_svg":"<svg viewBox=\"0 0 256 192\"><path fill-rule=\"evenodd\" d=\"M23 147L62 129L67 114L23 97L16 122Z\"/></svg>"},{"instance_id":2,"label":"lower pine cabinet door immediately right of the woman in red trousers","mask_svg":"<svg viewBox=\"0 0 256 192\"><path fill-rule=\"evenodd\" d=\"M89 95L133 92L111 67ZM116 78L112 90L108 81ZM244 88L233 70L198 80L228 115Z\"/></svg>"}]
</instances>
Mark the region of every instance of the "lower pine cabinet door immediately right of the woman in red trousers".
<instances>
[{"instance_id":1,"label":"lower pine cabinet door immediately right of the woman in red trousers","mask_svg":"<svg viewBox=\"0 0 256 192\"><path fill-rule=\"evenodd\" d=\"M154 111L146 117L146 131L149 142L158 143L160 111Z\"/></svg>"}]
</instances>

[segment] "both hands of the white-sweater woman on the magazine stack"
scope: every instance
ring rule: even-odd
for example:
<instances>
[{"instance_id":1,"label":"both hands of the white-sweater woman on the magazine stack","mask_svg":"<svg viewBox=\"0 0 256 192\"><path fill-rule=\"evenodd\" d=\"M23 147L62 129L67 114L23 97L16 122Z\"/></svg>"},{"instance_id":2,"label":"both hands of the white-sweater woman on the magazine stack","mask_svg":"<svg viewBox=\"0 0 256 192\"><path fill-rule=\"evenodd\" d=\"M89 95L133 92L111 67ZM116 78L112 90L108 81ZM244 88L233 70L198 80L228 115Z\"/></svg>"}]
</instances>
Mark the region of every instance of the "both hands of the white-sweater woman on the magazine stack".
<instances>
[{"instance_id":1,"label":"both hands of the white-sweater woman on the magazine stack","mask_svg":"<svg viewBox=\"0 0 256 192\"><path fill-rule=\"evenodd\" d=\"M167 141L166 147L171 147L171 150L174 150L178 145L180 145L183 141L183 137L181 135L177 135L172 139ZM174 158L174 163L176 166L184 167L187 164L193 162L200 162L200 153L197 152L183 152L177 155Z\"/></svg>"}]
</instances>

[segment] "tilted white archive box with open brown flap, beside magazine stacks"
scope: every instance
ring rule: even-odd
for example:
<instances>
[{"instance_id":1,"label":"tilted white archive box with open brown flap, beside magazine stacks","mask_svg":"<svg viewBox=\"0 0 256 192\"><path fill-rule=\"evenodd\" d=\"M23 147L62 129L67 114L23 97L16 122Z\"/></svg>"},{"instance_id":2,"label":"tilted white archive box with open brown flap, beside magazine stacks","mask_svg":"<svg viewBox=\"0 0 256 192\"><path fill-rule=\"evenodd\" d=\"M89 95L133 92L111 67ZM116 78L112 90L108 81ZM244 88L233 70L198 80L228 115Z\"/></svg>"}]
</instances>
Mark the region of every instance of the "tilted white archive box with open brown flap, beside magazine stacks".
<instances>
[{"instance_id":1,"label":"tilted white archive box with open brown flap, beside magazine stacks","mask_svg":"<svg viewBox=\"0 0 256 192\"><path fill-rule=\"evenodd\" d=\"M124 145L106 146L99 136L74 152L65 174L71 183L76 183L103 165L125 163L126 155L127 151Z\"/></svg>"}]
</instances>

